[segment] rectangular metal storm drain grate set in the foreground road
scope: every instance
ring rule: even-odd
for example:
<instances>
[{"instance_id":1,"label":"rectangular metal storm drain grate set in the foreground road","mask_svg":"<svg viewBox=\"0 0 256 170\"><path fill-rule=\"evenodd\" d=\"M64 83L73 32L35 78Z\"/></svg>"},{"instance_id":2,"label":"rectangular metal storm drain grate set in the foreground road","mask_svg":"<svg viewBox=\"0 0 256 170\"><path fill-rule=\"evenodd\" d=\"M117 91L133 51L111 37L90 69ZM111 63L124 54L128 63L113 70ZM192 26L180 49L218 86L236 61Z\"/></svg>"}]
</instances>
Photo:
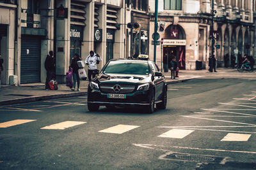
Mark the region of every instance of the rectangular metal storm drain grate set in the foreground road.
<instances>
[{"instance_id":1,"label":"rectangular metal storm drain grate set in the foreground road","mask_svg":"<svg viewBox=\"0 0 256 170\"><path fill-rule=\"evenodd\" d=\"M211 157L207 155L191 155L191 154L184 154L184 153L171 153L166 155L164 159L172 159L172 160L187 160L193 162L216 162L220 163L224 157Z\"/></svg>"}]
</instances>

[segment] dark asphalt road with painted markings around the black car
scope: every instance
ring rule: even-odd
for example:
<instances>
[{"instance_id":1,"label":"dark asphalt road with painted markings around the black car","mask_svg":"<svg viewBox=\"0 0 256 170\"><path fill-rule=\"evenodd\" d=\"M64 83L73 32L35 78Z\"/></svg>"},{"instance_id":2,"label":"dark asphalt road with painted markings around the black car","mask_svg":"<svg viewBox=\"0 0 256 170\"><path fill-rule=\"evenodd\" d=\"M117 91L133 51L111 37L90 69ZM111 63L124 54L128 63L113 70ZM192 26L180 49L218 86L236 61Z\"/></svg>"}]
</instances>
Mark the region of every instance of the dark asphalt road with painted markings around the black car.
<instances>
[{"instance_id":1,"label":"dark asphalt road with painted markings around the black car","mask_svg":"<svg viewBox=\"0 0 256 170\"><path fill-rule=\"evenodd\" d=\"M256 169L255 81L168 85L153 114L88 112L86 96L3 106L0 169Z\"/></svg>"}]
</instances>

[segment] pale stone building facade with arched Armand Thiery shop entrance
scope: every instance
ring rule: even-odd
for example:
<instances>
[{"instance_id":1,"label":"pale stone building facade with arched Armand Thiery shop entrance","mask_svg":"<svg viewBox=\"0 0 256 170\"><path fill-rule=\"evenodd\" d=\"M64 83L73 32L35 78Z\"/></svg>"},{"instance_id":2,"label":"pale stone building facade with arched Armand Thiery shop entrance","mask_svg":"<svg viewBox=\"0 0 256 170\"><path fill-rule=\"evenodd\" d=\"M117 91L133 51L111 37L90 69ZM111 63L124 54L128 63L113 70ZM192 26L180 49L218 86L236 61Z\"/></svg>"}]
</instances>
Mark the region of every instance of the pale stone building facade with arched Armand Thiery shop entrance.
<instances>
[{"instance_id":1,"label":"pale stone building facade with arched Armand Thiery shop entrance","mask_svg":"<svg viewBox=\"0 0 256 170\"><path fill-rule=\"evenodd\" d=\"M158 25L163 46L157 46L157 65L168 71L170 57L175 56L180 69L206 69L211 53L211 1L159 0ZM149 1L150 34L154 32L154 1ZM218 67L224 66L224 55L255 56L255 0L214 0L214 54ZM159 29L158 29L159 30ZM153 39L150 38L150 41ZM150 56L153 46L150 45ZM161 52L162 51L162 52Z\"/></svg>"}]
</instances>

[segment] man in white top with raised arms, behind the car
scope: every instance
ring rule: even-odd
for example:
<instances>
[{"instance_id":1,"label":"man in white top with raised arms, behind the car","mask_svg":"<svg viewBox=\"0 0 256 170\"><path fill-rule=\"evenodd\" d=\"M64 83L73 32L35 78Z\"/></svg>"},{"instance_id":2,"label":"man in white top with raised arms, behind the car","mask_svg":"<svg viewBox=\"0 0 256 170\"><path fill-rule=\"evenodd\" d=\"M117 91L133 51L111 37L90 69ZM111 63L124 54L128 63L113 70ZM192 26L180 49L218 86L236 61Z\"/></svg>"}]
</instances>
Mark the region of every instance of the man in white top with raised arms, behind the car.
<instances>
[{"instance_id":1,"label":"man in white top with raised arms, behind the car","mask_svg":"<svg viewBox=\"0 0 256 170\"><path fill-rule=\"evenodd\" d=\"M92 81L92 78L95 78L96 76L95 71L97 71L97 64L99 64L100 61L101 61L101 58L99 54L96 54L93 51L90 51L90 55L88 55L88 57L86 57L86 59L84 60L84 63L88 65L89 81Z\"/></svg>"}]
</instances>

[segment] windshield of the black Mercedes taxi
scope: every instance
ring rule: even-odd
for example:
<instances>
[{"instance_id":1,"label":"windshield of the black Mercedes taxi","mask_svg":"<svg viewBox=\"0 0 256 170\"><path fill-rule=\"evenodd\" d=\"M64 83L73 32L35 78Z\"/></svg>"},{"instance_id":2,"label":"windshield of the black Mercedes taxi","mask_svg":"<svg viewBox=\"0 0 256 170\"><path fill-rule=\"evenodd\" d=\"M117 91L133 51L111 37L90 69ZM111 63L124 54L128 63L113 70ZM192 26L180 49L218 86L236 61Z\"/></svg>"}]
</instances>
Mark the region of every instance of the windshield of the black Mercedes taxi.
<instances>
[{"instance_id":1,"label":"windshield of the black Mercedes taxi","mask_svg":"<svg viewBox=\"0 0 256 170\"><path fill-rule=\"evenodd\" d=\"M110 61L105 67L103 73L105 74L149 74L149 67L147 62L141 61L124 61L115 60Z\"/></svg>"}]
</instances>

